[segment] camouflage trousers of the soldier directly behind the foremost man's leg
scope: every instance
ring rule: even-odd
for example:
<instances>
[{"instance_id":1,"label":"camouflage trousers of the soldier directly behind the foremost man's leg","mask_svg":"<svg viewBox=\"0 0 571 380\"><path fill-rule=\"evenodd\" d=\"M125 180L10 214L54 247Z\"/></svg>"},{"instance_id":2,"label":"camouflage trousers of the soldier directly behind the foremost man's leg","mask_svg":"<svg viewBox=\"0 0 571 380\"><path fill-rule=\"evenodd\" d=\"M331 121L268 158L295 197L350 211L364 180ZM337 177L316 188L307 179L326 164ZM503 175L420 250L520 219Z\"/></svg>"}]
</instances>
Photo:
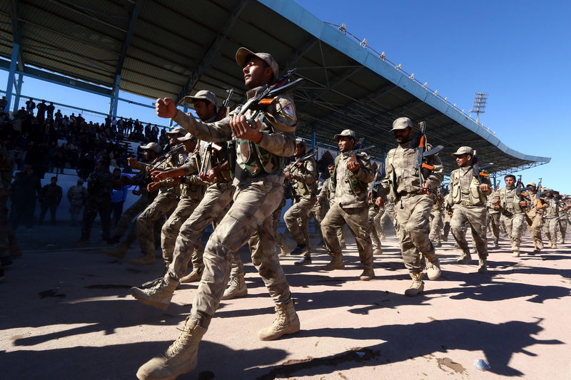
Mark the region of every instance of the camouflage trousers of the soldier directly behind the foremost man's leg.
<instances>
[{"instance_id":1,"label":"camouflage trousers of the soldier directly behind the foremost man's leg","mask_svg":"<svg viewBox=\"0 0 571 380\"><path fill-rule=\"evenodd\" d=\"M206 188L204 197L192 214L183 222L173 249L172 263L168 274L174 279L181 279L186 274L188 263L192 260L193 268L204 267L202 235L209 224L218 226L230 208L235 188L231 183L215 183ZM238 256L232 252L234 257ZM238 256L239 260L239 256ZM239 260L241 267L242 261Z\"/></svg>"}]
</instances>

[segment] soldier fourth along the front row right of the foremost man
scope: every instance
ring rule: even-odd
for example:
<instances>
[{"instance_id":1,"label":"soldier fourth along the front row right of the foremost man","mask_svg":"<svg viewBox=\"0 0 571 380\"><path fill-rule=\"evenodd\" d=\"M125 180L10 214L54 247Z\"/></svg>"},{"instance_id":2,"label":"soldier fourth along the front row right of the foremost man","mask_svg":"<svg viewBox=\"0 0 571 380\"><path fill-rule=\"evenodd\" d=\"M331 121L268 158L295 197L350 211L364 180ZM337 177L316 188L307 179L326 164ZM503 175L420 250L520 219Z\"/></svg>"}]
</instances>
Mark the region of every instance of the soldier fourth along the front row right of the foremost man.
<instances>
[{"instance_id":1,"label":"soldier fourth along the front row right of the foremost man","mask_svg":"<svg viewBox=\"0 0 571 380\"><path fill-rule=\"evenodd\" d=\"M497 192L495 198L496 210L500 210L500 221L505 226L507 236L512 241L512 256L520 256L520 242L525 223L525 202L515 193L515 175L508 174L504 177L505 188ZM498 201L499 200L499 201Z\"/></svg>"}]
</instances>

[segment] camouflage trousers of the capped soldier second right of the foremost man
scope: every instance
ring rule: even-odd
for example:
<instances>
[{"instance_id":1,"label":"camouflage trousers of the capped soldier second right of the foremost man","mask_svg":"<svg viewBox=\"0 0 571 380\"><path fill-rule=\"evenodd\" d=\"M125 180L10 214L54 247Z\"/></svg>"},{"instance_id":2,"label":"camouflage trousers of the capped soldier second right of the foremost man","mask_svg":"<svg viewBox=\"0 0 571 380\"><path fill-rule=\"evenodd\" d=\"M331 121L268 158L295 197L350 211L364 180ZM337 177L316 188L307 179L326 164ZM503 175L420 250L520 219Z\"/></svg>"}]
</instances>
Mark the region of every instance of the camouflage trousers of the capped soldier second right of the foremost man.
<instances>
[{"instance_id":1,"label":"camouflage trousers of the capped soldier second right of the foremost man","mask_svg":"<svg viewBox=\"0 0 571 380\"><path fill-rule=\"evenodd\" d=\"M370 228L368 223L367 208L347 208L343 209L337 203L329 209L323 222L321 222L321 233L325 238L325 246L331 255L340 255L338 231L343 233L343 225L347 223L350 232L355 237L359 258L365 268L373 267L373 243L370 240Z\"/></svg>"}]
</instances>

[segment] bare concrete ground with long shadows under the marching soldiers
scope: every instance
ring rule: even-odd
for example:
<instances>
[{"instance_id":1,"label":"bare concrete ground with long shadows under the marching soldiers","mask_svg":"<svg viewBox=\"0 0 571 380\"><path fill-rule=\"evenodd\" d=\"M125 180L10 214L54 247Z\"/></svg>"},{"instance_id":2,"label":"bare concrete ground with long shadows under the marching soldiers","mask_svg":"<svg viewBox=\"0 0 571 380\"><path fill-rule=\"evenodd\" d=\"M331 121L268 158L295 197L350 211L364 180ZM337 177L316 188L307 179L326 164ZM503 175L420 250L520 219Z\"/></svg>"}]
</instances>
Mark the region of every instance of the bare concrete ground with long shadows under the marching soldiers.
<instances>
[{"instance_id":1,"label":"bare concrete ground with long shadows under the marching soldiers","mask_svg":"<svg viewBox=\"0 0 571 380\"><path fill-rule=\"evenodd\" d=\"M24 255L0 283L0 379L135 379L178 336L197 285L182 284L166 312L139 304L128 288L158 277L161 260L133 267L101 255L96 237L72 244L77 232L19 233ZM530 255L527 235L516 258L502 240L490 273L477 274L477 261L455 264L459 251L446 242L442 277L409 298L395 237L370 282L358 280L348 242L344 270L318 271L323 250L309 267L282 260L302 330L275 342L257 339L273 303L242 250L248 297L221 302L196 370L180 379L571 379L571 245ZM133 247L126 259L137 255Z\"/></svg>"}]
</instances>

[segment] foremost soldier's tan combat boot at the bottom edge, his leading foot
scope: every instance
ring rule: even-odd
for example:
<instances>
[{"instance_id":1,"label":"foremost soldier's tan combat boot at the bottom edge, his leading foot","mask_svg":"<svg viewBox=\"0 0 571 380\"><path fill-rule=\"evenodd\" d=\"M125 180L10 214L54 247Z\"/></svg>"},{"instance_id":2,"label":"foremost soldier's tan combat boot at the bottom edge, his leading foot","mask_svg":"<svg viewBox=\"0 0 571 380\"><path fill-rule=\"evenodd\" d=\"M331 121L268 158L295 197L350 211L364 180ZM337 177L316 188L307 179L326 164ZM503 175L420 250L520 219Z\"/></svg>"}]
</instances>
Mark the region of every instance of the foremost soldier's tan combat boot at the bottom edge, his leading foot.
<instances>
[{"instance_id":1,"label":"foremost soldier's tan combat boot at the bottom edge, his leading foot","mask_svg":"<svg viewBox=\"0 0 571 380\"><path fill-rule=\"evenodd\" d=\"M170 380L188 374L196 367L198 344L206 329L196 319L186 317L184 328L164 354L147 361L137 371L140 380Z\"/></svg>"}]
</instances>

